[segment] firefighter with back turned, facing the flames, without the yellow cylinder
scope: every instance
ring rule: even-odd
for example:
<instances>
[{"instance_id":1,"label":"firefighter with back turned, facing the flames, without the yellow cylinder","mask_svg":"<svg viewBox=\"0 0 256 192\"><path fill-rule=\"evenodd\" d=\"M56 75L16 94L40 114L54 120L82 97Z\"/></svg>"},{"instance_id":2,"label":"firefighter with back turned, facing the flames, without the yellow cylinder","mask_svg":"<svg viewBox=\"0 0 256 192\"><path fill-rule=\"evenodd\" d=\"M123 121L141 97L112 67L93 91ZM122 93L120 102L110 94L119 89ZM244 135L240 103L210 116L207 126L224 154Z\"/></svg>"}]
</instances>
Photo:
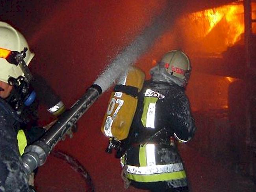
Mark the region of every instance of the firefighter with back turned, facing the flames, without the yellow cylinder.
<instances>
[{"instance_id":1,"label":"firefighter with back turned, facing the flames, without the yellow cylinder","mask_svg":"<svg viewBox=\"0 0 256 192\"><path fill-rule=\"evenodd\" d=\"M180 50L169 51L150 69L152 78L138 93L129 135L116 154L127 186L152 192L189 191L176 143L189 141L196 130L185 94L190 72L189 59Z\"/></svg>"}]
</instances>

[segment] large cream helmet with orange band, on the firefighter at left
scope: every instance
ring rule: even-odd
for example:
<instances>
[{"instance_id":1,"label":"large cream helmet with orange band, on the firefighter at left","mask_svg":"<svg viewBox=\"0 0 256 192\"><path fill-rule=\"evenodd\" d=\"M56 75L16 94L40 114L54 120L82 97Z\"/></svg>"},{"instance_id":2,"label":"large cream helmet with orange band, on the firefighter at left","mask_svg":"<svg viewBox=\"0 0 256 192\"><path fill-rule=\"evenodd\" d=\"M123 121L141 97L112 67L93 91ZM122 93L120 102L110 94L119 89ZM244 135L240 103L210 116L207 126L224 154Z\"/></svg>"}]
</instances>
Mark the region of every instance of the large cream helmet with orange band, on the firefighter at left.
<instances>
[{"instance_id":1,"label":"large cream helmet with orange band, on the firefighter at left","mask_svg":"<svg viewBox=\"0 0 256 192\"><path fill-rule=\"evenodd\" d=\"M26 65L28 65L35 55L30 52L28 42L19 31L5 22L0 22L0 81L8 83L9 77L17 78L20 75L24 77L20 66L15 66L7 62L4 53L5 49L6 51L20 52L24 48L28 48L26 57L24 58Z\"/></svg>"}]
</instances>

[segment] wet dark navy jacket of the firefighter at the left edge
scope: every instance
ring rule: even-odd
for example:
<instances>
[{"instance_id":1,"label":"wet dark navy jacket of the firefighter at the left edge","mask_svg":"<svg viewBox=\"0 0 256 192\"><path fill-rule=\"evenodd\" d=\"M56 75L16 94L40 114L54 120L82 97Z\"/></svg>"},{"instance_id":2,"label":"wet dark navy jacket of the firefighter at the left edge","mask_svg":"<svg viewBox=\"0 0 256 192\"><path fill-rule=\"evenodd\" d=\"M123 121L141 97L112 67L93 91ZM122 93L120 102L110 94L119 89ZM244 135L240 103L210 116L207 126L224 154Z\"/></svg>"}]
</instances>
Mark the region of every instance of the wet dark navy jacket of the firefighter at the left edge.
<instances>
[{"instance_id":1,"label":"wet dark navy jacket of the firefighter at the left edge","mask_svg":"<svg viewBox=\"0 0 256 192\"><path fill-rule=\"evenodd\" d=\"M30 192L17 143L20 119L0 98L0 191Z\"/></svg>"}]
</instances>

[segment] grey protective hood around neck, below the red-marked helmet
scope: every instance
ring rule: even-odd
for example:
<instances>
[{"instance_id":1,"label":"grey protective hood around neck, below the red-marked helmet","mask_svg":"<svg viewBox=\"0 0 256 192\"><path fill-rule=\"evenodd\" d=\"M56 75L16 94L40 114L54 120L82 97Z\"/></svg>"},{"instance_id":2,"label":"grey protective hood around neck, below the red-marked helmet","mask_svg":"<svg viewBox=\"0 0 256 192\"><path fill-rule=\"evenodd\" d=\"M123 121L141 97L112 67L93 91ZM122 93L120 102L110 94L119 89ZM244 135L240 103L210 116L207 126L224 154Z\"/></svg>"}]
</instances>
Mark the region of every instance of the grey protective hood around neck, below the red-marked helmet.
<instances>
[{"instance_id":1,"label":"grey protective hood around neck, below the red-marked helmet","mask_svg":"<svg viewBox=\"0 0 256 192\"><path fill-rule=\"evenodd\" d=\"M165 68L160 65L156 65L155 67L151 68L149 73L152 76L153 81L163 81L170 84L175 83L180 87L185 87L187 84L187 81L185 79L180 79L167 73Z\"/></svg>"}]
</instances>

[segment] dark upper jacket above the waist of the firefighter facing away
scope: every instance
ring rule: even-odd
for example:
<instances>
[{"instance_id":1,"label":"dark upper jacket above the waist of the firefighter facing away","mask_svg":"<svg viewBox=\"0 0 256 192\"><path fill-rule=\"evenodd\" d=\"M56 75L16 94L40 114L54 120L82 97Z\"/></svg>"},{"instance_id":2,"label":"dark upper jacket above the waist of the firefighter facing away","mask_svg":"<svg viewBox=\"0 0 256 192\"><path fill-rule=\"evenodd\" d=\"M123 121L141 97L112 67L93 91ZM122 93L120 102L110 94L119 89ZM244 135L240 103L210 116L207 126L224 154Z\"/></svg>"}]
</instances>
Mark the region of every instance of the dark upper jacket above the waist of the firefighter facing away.
<instances>
[{"instance_id":1,"label":"dark upper jacket above the waist of the firefighter facing away","mask_svg":"<svg viewBox=\"0 0 256 192\"><path fill-rule=\"evenodd\" d=\"M155 107L154 128L146 128L142 120L145 110L144 98L150 97L150 94L152 96L159 94ZM195 129L189 101L183 87L170 82L153 80L145 82L139 93L138 106L132 123L133 142L143 143L150 140L169 142L171 136L189 141Z\"/></svg>"}]
</instances>

